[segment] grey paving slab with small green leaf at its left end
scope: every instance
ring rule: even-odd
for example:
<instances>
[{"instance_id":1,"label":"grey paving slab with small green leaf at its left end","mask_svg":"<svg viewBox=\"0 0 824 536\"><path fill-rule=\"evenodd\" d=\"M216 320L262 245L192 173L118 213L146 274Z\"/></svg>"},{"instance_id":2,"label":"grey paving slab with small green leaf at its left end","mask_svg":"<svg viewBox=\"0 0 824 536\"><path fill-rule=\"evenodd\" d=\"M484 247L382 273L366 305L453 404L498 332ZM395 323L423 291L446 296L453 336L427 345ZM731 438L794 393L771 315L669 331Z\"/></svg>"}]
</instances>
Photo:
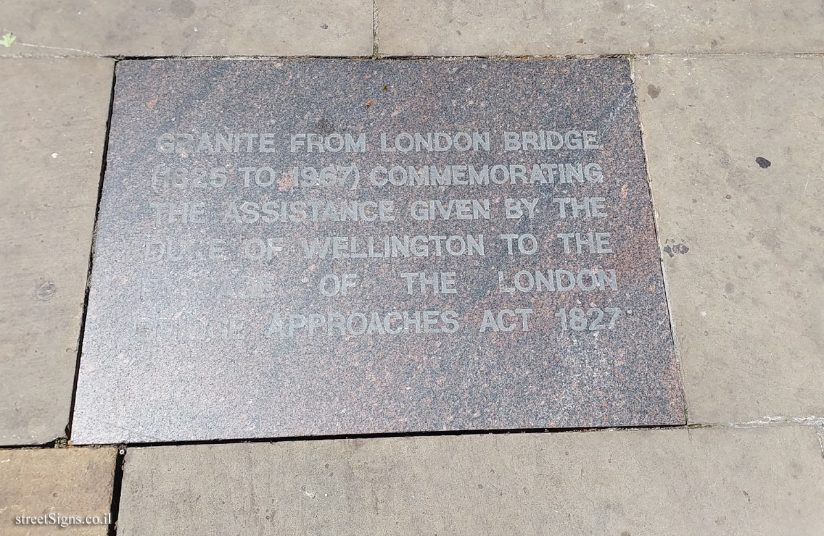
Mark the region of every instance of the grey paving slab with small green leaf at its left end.
<instances>
[{"instance_id":1,"label":"grey paving slab with small green leaf at its left end","mask_svg":"<svg viewBox=\"0 0 824 536\"><path fill-rule=\"evenodd\" d=\"M372 0L7 0L0 55L372 54Z\"/></svg>"}]
</instances>

